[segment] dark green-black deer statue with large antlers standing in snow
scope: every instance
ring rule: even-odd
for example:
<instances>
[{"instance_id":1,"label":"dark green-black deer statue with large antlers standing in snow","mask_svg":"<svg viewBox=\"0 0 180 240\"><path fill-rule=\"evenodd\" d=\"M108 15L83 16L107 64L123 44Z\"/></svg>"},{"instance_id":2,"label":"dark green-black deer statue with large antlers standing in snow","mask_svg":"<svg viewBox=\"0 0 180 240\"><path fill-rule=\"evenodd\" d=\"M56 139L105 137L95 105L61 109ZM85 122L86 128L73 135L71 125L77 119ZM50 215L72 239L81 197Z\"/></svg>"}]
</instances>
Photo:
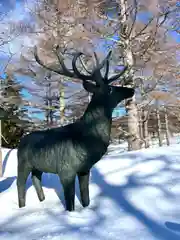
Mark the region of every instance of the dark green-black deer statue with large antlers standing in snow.
<instances>
[{"instance_id":1,"label":"dark green-black deer statue with large antlers standing in snow","mask_svg":"<svg viewBox=\"0 0 180 240\"><path fill-rule=\"evenodd\" d=\"M19 207L25 206L26 180L31 173L32 182L40 201L45 199L41 184L42 173L58 174L64 190L67 211L74 211L75 178L78 176L81 204L86 207L89 199L89 175L92 166L106 153L111 133L112 112L121 101L132 98L134 89L110 85L124 74L108 77L111 51L103 61L94 53L95 67L84 74L77 67L82 53L73 55L72 70L56 48L60 67L46 66L39 58L37 47L34 56L37 63L58 74L82 80L84 89L92 93L83 116L76 122L41 131L34 131L21 138L18 146L17 190ZM105 67L105 73L101 69Z\"/></svg>"}]
</instances>

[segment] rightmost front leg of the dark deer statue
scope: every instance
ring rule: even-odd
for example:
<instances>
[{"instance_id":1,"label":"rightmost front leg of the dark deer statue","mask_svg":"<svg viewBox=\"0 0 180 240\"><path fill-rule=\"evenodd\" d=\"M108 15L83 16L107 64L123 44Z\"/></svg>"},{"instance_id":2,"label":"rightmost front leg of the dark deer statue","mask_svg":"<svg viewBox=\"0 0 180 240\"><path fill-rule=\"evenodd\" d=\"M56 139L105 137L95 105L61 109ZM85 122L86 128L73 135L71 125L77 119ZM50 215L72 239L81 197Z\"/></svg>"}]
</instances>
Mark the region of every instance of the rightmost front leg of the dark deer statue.
<instances>
[{"instance_id":1,"label":"rightmost front leg of the dark deer statue","mask_svg":"<svg viewBox=\"0 0 180 240\"><path fill-rule=\"evenodd\" d=\"M89 174L88 172L78 173L79 187L81 194L81 203L83 207L87 207L90 203L89 200Z\"/></svg>"}]
</instances>

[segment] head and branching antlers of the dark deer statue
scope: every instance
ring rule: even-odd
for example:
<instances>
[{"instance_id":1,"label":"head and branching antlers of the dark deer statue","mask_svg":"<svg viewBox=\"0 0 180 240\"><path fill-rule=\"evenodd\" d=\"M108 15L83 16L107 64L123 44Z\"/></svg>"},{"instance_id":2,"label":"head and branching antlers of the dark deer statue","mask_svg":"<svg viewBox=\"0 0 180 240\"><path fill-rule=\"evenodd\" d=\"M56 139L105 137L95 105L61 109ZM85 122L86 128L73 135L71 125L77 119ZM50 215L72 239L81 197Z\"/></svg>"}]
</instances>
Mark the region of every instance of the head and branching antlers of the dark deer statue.
<instances>
[{"instance_id":1,"label":"head and branching antlers of the dark deer statue","mask_svg":"<svg viewBox=\"0 0 180 240\"><path fill-rule=\"evenodd\" d=\"M87 75L80 72L77 67L77 60L83 55L83 53L78 52L74 54L73 60L72 60L72 69L73 71L70 71L64 63L64 58L62 54L59 52L59 48L56 48L55 54L59 60L61 69L55 69L52 67L46 66L38 57L37 54L37 48L35 47L35 59L36 61L46 69L50 71L54 71L58 74L80 79L82 80L84 89L93 94L93 97L97 100L104 101L104 104L107 106L111 106L114 108L118 103L121 101L131 98L134 95L134 89L123 87L123 86L113 86L111 85L112 82L116 81L119 77L121 77L125 71L127 70L127 66L124 67L124 69L114 75L109 77L109 60L111 56L111 51L108 53L106 58L100 63L97 54L94 53L95 57L95 67L94 69L89 72L85 67L85 70L88 72ZM102 75L101 69L105 67L105 74Z\"/></svg>"}]
</instances>

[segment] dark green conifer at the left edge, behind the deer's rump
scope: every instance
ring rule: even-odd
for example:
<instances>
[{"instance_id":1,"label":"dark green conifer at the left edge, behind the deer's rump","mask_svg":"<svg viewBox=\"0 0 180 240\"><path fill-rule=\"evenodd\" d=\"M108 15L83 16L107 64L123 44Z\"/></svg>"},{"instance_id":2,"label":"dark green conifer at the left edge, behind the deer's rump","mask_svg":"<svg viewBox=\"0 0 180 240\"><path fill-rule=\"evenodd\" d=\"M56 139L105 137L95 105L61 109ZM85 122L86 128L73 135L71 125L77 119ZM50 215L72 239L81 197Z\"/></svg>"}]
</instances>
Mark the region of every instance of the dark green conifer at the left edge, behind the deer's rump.
<instances>
[{"instance_id":1,"label":"dark green conifer at the left edge, behind the deer's rump","mask_svg":"<svg viewBox=\"0 0 180 240\"><path fill-rule=\"evenodd\" d=\"M2 105L2 146L6 148L16 148L23 135L24 110L22 109L22 86L17 83L13 76L6 75L1 80Z\"/></svg>"}]
</instances>

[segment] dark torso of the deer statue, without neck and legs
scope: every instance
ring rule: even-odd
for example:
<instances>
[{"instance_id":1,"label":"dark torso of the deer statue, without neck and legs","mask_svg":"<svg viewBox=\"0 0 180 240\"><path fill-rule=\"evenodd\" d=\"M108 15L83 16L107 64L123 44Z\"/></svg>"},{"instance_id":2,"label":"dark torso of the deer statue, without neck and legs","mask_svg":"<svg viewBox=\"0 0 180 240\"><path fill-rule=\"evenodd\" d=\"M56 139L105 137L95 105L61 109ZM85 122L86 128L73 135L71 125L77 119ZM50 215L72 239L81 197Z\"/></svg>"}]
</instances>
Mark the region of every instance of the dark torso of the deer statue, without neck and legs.
<instances>
[{"instance_id":1,"label":"dark torso of the deer statue, without neck and legs","mask_svg":"<svg viewBox=\"0 0 180 240\"><path fill-rule=\"evenodd\" d=\"M80 172L89 170L106 150L106 143L86 134L77 122L24 136L19 144L18 159L27 160L43 172L58 173L63 169Z\"/></svg>"}]
</instances>

